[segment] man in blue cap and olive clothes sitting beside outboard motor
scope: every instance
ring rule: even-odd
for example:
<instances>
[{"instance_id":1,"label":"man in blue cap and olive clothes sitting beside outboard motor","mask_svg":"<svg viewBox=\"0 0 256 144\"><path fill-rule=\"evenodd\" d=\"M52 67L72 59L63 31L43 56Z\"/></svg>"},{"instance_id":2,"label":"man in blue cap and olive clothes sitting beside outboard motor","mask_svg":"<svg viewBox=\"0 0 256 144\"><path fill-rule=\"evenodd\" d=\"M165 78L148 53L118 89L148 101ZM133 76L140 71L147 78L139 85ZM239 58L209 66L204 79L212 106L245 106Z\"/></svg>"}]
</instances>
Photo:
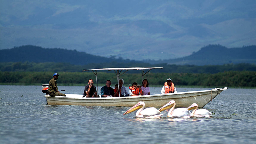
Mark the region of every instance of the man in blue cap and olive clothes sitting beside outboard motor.
<instances>
[{"instance_id":1,"label":"man in blue cap and olive clothes sitting beside outboard motor","mask_svg":"<svg viewBox=\"0 0 256 144\"><path fill-rule=\"evenodd\" d=\"M58 91L57 79L58 79L59 76L60 75L57 74L57 73L53 74L53 78L49 82L48 92L49 92L49 95L51 97L54 97L54 96L63 96L63 97L65 97L66 96L65 94L60 93Z\"/></svg>"}]
</instances>

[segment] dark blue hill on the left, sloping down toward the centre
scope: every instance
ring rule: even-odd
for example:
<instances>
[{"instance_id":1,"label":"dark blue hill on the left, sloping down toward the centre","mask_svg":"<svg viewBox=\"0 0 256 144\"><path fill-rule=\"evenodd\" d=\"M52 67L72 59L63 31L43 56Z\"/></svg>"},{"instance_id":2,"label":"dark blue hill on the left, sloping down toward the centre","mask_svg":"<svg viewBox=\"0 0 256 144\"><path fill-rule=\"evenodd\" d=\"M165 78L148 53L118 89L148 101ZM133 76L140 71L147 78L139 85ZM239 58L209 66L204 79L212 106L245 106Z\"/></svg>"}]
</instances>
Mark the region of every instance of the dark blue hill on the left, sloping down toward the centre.
<instances>
[{"instance_id":1,"label":"dark blue hill on the left, sloping down toward the centre","mask_svg":"<svg viewBox=\"0 0 256 144\"><path fill-rule=\"evenodd\" d=\"M67 50L60 48L42 48L39 46L25 45L12 49L0 50L0 62L65 62L75 65L85 65L89 63L103 63L118 61L122 63L132 62L119 58L106 58L95 56L86 52Z\"/></svg>"}]
</instances>

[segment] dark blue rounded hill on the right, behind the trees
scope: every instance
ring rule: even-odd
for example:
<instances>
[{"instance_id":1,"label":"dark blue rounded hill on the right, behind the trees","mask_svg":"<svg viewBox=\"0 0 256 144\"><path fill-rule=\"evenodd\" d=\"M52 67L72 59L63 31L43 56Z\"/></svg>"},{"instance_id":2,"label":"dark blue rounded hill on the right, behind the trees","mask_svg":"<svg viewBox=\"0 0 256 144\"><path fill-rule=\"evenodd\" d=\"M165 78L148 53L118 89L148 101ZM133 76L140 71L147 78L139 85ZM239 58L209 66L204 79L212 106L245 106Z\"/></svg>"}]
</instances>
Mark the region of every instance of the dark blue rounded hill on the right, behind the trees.
<instances>
[{"instance_id":1,"label":"dark blue rounded hill on the right, behind the trees","mask_svg":"<svg viewBox=\"0 0 256 144\"><path fill-rule=\"evenodd\" d=\"M228 63L254 63L256 64L256 46L242 48L227 48L220 44L207 45L198 52L178 58L161 61L144 61L149 63L163 63L176 65L223 65Z\"/></svg>"}]
</instances>

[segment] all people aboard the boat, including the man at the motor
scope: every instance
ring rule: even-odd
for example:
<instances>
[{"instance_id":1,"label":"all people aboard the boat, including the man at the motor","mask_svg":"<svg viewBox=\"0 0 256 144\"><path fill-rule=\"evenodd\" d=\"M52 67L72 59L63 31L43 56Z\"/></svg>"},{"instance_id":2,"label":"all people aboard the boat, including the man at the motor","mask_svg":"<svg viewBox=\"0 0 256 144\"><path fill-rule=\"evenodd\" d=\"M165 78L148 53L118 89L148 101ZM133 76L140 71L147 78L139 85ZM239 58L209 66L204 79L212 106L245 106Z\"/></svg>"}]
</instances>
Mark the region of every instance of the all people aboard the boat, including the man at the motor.
<instances>
[{"instance_id":1,"label":"all people aboard the boat, including the man at the motor","mask_svg":"<svg viewBox=\"0 0 256 144\"><path fill-rule=\"evenodd\" d=\"M58 91L57 87L57 79L59 74L55 73L53 74L53 78L49 82L49 88L48 92L50 96L66 96L63 93L60 93ZM132 83L132 86L129 87L129 92L126 90L126 87L124 87L124 80L120 78L118 80L118 84L115 85L115 88L113 89L110 87L111 81L107 80L106 85L103 86L100 89L101 97L125 97L125 96L139 96L139 95L150 95L150 88L148 86L148 80L143 79L142 85L137 84L136 82ZM119 87L119 89L118 89ZM172 79L168 78L167 81L164 83L163 88L161 89L161 94L163 93L173 93L175 91L174 84L172 83ZM84 87L84 96L87 98L97 98L99 97L97 95L96 87L93 85L93 80L88 80L88 85Z\"/></svg>"}]
</instances>

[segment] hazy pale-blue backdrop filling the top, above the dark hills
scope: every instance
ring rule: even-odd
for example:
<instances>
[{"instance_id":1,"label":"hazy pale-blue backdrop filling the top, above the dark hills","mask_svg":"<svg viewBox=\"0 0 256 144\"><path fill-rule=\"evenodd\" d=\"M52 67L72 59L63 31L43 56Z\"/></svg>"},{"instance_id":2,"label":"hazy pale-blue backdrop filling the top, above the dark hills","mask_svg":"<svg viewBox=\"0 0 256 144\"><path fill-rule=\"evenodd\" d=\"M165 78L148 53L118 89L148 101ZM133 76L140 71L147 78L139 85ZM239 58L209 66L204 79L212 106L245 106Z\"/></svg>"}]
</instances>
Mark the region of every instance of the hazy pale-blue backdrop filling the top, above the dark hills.
<instances>
[{"instance_id":1,"label":"hazy pale-blue backdrop filling the top, above the dark hills","mask_svg":"<svg viewBox=\"0 0 256 144\"><path fill-rule=\"evenodd\" d=\"M27 44L136 60L256 45L256 1L0 0L0 49Z\"/></svg>"}]
</instances>

